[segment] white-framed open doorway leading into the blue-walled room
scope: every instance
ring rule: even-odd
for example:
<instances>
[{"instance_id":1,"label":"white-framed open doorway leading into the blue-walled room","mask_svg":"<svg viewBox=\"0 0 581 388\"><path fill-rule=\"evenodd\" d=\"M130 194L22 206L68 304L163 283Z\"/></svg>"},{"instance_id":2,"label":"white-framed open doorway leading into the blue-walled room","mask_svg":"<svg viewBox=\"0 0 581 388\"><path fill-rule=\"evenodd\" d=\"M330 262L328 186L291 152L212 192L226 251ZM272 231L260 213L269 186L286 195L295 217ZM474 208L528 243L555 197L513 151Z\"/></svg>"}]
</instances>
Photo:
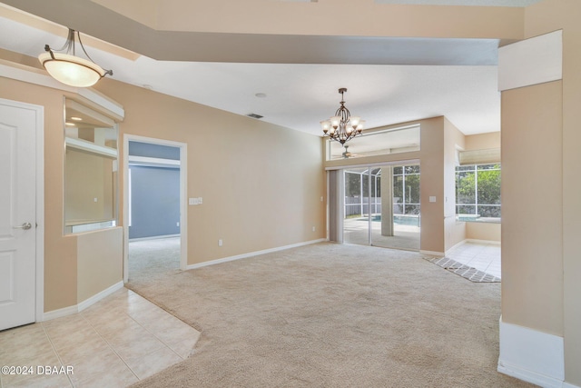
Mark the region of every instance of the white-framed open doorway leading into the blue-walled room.
<instances>
[{"instance_id":1,"label":"white-framed open doorway leading into the blue-walled room","mask_svg":"<svg viewBox=\"0 0 581 388\"><path fill-rule=\"evenodd\" d=\"M124 136L125 283L187 265L186 144Z\"/></svg>"}]
</instances>

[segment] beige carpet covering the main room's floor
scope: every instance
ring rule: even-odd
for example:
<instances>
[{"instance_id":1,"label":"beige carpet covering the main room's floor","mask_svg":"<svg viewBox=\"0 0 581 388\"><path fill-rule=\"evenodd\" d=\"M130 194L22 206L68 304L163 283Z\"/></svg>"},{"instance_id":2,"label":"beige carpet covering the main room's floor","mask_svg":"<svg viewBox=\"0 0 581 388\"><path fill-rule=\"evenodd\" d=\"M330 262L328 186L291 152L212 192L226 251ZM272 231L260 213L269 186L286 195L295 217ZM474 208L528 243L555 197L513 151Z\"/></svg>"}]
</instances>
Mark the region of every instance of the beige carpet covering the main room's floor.
<instances>
[{"instance_id":1,"label":"beige carpet covering the main room's floor","mask_svg":"<svg viewBox=\"0 0 581 388\"><path fill-rule=\"evenodd\" d=\"M202 330L135 387L526 387L497 373L500 284L315 244L129 284Z\"/></svg>"}]
</instances>

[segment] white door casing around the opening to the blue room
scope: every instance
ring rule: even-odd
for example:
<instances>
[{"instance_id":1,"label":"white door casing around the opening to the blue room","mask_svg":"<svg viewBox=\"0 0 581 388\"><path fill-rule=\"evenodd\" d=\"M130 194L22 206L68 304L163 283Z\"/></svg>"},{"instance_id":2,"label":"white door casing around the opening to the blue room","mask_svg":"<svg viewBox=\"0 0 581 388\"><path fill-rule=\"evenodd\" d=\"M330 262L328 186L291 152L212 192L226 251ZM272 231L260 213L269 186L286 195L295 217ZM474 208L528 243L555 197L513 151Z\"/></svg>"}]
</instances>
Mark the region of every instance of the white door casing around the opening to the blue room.
<instances>
[{"instance_id":1,"label":"white door casing around the opening to the blue room","mask_svg":"<svg viewBox=\"0 0 581 388\"><path fill-rule=\"evenodd\" d=\"M172 140L123 134L123 282L129 282L129 142L161 144L180 149L180 269L188 264L188 144Z\"/></svg>"}]
</instances>

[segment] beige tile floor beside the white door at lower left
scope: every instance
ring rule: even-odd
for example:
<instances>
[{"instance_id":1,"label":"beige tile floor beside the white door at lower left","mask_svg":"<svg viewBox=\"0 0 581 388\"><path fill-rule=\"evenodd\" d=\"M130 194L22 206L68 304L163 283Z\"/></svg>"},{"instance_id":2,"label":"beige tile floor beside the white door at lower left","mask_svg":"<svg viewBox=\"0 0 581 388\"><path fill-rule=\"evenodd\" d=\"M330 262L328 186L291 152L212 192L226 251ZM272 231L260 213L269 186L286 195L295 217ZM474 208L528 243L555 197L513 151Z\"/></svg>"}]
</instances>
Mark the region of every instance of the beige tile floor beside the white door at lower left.
<instances>
[{"instance_id":1,"label":"beige tile floor beside the white door at lower left","mask_svg":"<svg viewBox=\"0 0 581 388\"><path fill-rule=\"evenodd\" d=\"M0 332L0 366L33 367L0 373L0 386L124 387L187 358L199 336L123 288L82 313Z\"/></svg>"}]
</instances>

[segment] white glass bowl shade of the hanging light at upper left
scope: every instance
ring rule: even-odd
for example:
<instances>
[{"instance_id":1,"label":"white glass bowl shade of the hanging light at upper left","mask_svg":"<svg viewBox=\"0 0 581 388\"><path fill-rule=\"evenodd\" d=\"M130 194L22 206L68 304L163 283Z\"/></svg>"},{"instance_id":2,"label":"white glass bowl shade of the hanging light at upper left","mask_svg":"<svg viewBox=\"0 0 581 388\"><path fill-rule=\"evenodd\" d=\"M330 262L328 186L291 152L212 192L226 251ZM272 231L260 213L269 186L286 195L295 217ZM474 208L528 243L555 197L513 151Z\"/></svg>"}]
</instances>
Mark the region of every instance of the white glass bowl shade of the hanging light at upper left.
<instances>
[{"instance_id":1,"label":"white glass bowl shade of the hanging light at upper left","mask_svg":"<svg viewBox=\"0 0 581 388\"><path fill-rule=\"evenodd\" d=\"M64 85L93 86L105 75L101 66L74 55L43 53L38 60L49 75Z\"/></svg>"}]
</instances>

